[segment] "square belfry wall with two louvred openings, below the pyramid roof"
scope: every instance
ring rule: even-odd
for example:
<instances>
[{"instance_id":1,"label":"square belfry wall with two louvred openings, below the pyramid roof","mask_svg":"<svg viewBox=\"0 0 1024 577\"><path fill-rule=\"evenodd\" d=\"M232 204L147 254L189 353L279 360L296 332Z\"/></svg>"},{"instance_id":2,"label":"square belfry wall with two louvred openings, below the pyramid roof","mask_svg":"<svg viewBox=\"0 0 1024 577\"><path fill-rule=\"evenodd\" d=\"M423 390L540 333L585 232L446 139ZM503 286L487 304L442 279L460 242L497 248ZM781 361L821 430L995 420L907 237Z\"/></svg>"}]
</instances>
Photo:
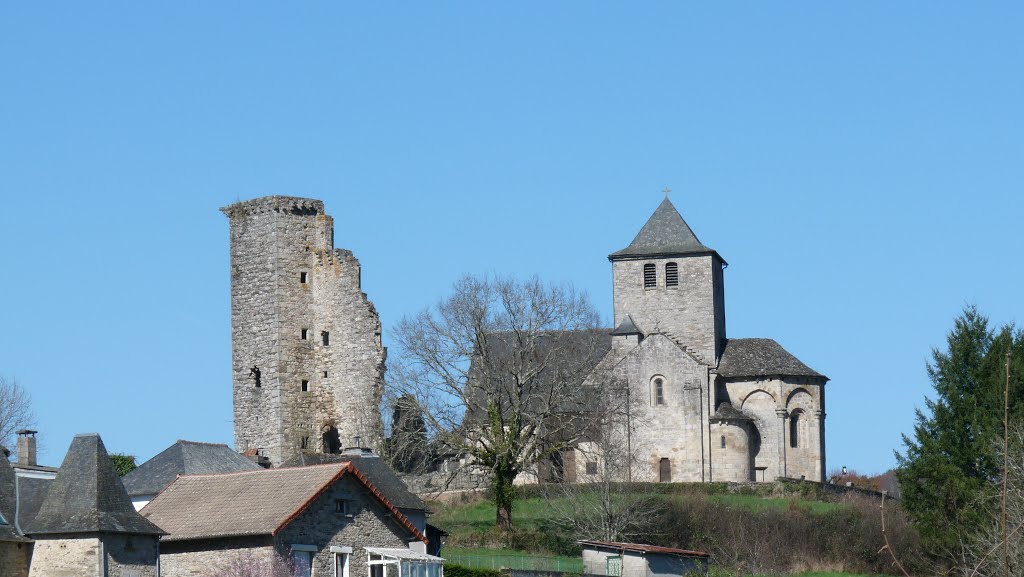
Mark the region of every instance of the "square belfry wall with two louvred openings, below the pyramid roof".
<instances>
[{"instance_id":1,"label":"square belfry wall with two louvred openings, below the pyramid roof","mask_svg":"<svg viewBox=\"0 0 1024 577\"><path fill-rule=\"evenodd\" d=\"M665 265L669 262L679 265L678 288L666 287ZM643 266L647 263L654 263L657 271L657 286L651 289L643 286ZM641 331L672 334L692 347L701 362L718 364L725 338L721 260L711 255L615 260L611 271L613 326L631 315Z\"/></svg>"}]
</instances>

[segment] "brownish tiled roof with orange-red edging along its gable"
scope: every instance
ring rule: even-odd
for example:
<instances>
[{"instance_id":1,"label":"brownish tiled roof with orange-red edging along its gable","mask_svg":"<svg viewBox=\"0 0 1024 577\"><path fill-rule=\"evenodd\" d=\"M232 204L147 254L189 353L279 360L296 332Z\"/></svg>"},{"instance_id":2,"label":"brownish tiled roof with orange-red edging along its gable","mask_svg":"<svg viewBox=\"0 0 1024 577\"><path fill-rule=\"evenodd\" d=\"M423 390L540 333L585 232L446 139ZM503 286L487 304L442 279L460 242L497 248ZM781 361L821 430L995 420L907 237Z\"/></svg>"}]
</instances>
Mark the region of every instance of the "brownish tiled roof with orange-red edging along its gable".
<instances>
[{"instance_id":1,"label":"brownish tiled roof with orange-red edging along its gable","mask_svg":"<svg viewBox=\"0 0 1024 577\"><path fill-rule=\"evenodd\" d=\"M352 475L411 535L426 537L349 462L179 477L141 513L169 534L164 541L275 535L343 475Z\"/></svg>"}]
</instances>

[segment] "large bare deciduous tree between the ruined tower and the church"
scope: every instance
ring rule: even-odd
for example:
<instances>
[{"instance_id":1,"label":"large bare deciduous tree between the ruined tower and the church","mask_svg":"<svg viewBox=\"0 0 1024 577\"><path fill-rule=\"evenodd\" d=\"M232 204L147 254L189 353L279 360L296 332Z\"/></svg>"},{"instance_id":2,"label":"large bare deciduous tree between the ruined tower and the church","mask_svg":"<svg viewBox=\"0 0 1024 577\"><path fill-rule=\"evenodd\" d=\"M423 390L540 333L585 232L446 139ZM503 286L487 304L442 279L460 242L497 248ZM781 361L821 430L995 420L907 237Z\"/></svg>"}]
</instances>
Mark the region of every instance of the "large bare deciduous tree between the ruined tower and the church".
<instances>
[{"instance_id":1,"label":"large bare deciduous tree between the ruined tower and the church","mask_svg":"<svg viewBox=\"0 0 1024 577\"><path fill-rule=\"evenodd\" d=\"M489 472L510 529L516 478L573 446L599 398L582 386L608 347L596 310L568 285L464 277L395 332L391 398L412 395L433 446Z\"/></svg>"}]
</instances>

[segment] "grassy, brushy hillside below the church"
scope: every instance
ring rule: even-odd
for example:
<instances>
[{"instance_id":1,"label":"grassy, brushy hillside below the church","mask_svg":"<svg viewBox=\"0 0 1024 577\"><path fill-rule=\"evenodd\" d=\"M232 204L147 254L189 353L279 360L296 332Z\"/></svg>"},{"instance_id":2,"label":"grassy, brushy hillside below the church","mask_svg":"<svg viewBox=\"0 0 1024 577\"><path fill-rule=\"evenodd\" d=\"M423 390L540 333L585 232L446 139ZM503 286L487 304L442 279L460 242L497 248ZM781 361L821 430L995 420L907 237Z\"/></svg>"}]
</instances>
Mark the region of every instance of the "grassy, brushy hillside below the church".
<instances>
[{"instance_id":1,"label":"grassy, brushy hillside below the church","mask_svg":"<svg viewBox=\"0 0 1024 577\"><path fill-rule=\"evenodd\" d=\"M654 505L630 541L707 551L723 575L897 574L888 552L880 553L885 540L877 497L825 493L813 484L635 484L618 490ZM588 498L522 488L509 533L495 529L495 507L483 495L434 503L431 523L451 534L444 557L488 568L513 566L514 555L548 557L572 571L570 562L579 567L581 552L577 540L601 538L566 528L565 511ZM886 528L900 561L920 569L918 536L893 500L887 500ZM495 555L504 559L488 559ZM556 566L537 568L549 567Z\"/></svg>"}]
</instances>

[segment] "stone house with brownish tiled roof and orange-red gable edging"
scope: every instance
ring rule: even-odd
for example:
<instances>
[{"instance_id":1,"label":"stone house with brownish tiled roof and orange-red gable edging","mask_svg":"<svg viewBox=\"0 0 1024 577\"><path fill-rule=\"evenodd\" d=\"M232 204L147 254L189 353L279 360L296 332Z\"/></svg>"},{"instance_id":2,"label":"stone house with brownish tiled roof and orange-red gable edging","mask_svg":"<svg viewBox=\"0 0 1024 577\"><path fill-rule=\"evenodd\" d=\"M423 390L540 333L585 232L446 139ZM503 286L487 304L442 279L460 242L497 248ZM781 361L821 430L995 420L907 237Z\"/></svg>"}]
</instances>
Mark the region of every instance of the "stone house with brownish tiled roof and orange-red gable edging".
<instances>
[{"instance_id":1,"label":"stone house with brownish tiled roof and orange-red gable edging","mask_svg":"<svg viewBox=\"0 0 1024 577\"><path fill-rule=\"evenodd\" d=\"M371 549L413 557L406 562L424 575L437 565L440 577L427 537L350 462L183 476L140 512L168 532L164 577L203 577L232 560L275 555L307 576L384 577L400 567Z\"/></svg>"}]
</instances>

